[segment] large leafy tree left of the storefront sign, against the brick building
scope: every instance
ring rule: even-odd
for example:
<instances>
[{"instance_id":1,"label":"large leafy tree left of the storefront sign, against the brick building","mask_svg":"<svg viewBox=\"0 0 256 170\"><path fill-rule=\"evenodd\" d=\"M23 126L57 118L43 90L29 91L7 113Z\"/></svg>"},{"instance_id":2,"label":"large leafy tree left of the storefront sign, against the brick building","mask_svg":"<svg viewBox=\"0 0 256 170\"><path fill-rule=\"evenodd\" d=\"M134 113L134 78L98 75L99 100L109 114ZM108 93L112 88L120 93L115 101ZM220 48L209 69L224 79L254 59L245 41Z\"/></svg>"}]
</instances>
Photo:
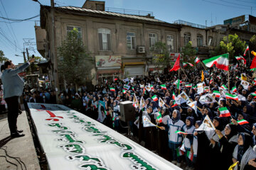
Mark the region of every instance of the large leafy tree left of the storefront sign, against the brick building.
<instances>
[{"instance_id":1,"label":"large leafy tree left of the storefront sign, against the brick building","mask_svg":"<svg viewBox=\"0 0 256 170\"><path fill-rule=\"evenodd\" d=\"M92 58L86 51L78 30L70 31L58 47L58 70L65 81L75 84L76 88L92 81Z\"/></svg>"}]
</instances>

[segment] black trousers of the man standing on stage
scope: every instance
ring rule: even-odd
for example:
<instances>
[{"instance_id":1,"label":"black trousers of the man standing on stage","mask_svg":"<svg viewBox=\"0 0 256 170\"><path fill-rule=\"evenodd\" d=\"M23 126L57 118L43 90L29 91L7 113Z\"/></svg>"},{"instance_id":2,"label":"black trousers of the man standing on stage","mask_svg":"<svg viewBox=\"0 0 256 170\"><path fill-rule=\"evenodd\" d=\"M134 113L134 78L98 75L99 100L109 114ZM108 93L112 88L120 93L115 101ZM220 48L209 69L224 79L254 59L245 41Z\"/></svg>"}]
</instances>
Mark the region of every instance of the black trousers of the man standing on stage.
<instances>
[{"instance_id":1,"label":"black trousers of the man standing on stage","mask_svg":"<svg viewBox=\"0 0 256 170\"><path fill-rule=\"evenodd\" d=\"M8 123L11 134L16 133L18 118L18 96L5 98L8 107Z\"/></svg>"}]
</instances>

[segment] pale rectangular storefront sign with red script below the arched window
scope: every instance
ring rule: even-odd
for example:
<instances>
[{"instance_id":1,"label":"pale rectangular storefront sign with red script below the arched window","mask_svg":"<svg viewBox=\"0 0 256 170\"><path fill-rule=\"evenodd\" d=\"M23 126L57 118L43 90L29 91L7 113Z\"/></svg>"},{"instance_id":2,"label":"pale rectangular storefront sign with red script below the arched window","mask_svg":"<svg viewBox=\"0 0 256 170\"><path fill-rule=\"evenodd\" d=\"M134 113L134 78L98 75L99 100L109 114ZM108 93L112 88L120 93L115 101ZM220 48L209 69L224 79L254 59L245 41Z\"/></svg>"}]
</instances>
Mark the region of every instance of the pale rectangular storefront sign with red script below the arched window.
<instances>
[{"instance_id":1,"label":"pale rectangular storefront sign with red script below the arched window","mask_svg":"<svg viewBox=\"0 0 256 170\"><path fill-rule=\"evenodd\" d=\"M96 55L95 62L96 67L121 67L122 58L121 56Z\"/></svg>"}]
</instances>

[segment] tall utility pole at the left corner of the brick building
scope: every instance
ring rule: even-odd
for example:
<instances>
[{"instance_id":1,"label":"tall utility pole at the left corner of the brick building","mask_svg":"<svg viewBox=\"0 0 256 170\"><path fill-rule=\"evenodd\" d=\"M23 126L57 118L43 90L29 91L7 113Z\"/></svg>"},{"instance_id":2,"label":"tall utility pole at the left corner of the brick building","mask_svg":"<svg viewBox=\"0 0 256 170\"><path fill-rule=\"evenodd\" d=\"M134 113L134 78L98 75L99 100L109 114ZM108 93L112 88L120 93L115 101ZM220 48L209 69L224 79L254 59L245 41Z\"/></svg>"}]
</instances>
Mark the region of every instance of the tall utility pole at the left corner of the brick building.
<instances>
[{"instance_id":1,"label":"tall utility pole at the left corner of the brick building","mask_svg":"<svg viewBox=\"0 0 256 170\"><path fill-rule=\"evenodd\" d=\"M56 50L56 34L55 34L55 12L54 12L54 0L50 0L50 13L52 18L52 29L51 29L51 40L52 44L50 45L50 58L53 59L53 81L54 81L54 87L56 91L56 101L59 103L58 100L58 94L60 93L60 86L58 81L58 61L57 61L57 50Z\"/></svg>"}]
</instances>

